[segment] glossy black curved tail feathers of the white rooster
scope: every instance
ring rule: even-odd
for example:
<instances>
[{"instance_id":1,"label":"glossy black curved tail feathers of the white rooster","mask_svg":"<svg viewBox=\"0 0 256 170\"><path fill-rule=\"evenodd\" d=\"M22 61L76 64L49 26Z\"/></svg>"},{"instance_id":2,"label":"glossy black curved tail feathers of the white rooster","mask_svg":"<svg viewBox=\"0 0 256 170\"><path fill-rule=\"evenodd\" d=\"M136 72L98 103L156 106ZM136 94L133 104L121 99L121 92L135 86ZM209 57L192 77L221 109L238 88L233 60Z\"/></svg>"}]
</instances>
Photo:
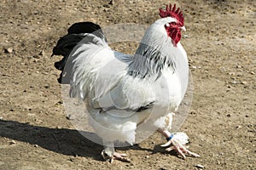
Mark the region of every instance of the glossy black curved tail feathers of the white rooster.
<instances>
[{"instance_id":1,"label":"glossy black curved tail feathers of the white rooster","mask_svg":"<svg viewBox=\"0 0 256 170\"><path fill-rule=\"evenodd\" d=\"M61 75L58 78L60 83L69 83L69 78L65 78L62 81L62 77L69 77L71 73L66 73L63 75L63 70L66 65L69 54L72 52L73 48L84 39L84 33L94 34L96 37L101 37L107 42L107 39L104 37L102 28L92 22L79 22L70 26L67 30L67 35L61 37L57 42L55 48L52 50L53 55L62 55L63 58L60 61L55 62L55 68L61 71Z\"/></svg>"}]
</instances>

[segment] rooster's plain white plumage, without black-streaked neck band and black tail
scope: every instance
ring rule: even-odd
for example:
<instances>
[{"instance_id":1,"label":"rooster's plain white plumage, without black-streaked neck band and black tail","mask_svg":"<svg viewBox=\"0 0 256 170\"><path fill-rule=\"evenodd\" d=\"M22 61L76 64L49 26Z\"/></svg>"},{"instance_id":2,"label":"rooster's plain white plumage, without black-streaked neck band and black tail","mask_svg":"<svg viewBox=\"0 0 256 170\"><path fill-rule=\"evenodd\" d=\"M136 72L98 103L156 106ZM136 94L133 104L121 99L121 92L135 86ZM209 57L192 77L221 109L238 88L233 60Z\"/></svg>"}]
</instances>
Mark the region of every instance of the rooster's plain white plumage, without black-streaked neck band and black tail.
<instances>
[{"instance_id":1,"label":"rooster's plain white plumage, without black-streaked neck band and black tail","mask_svg":"<svg viewBox=\"0 0 256 170\"><path fill-rule=\"evenodd\" d=\"M171 38L166 35L164 24L172 20L170 17L157 20L142 40L175 63L175 68L163 65L158 75L153 72L151 76L141 78L128 74L137 67L141 67L142 72L149 71L144 68L143 60L135 62L143 58L113 51L107 42L92 34L88 34L92 42L79 42L70 54L68 62L73 64L70 95L85 101L90 125L103 141L134 143L137 125L148 116L155 127L171 127L170 118L165 122L166 115L181 103L189 71L182 45L177 43L177 47L173 47ZM136 112L153 102L157 108L153 114L149 109Z\"/></svg>"}]
</instances>

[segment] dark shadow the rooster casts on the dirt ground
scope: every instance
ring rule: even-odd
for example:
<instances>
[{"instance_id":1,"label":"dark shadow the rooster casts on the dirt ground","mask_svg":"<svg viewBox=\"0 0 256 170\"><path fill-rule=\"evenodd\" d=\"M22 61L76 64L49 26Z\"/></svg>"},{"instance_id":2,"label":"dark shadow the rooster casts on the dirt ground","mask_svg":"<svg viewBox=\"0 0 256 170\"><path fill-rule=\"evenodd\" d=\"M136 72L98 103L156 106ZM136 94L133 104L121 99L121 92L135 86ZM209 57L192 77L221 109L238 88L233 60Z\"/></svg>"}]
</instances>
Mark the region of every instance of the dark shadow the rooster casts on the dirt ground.
<instances>
[{"instance_id":1,"label":"dark shadow the rooster casts on the dirt ground","mask_svg":"<svg viewBox=\"0 0 256 170\"><path fill-rule=\"evenodd\" d=\"M83 133L96 137L95 133ZM84 156L103 161L100 154L103 149L102 145L86 139L75 129L40 127L30 123L0 120L0 137L10 139L9 142L17 140L66 156ZM134 144L118 148L118 150L146 150L154 154L160 151L160 146L156 145L151 150Z\"/></svg>"}]
</instances>

